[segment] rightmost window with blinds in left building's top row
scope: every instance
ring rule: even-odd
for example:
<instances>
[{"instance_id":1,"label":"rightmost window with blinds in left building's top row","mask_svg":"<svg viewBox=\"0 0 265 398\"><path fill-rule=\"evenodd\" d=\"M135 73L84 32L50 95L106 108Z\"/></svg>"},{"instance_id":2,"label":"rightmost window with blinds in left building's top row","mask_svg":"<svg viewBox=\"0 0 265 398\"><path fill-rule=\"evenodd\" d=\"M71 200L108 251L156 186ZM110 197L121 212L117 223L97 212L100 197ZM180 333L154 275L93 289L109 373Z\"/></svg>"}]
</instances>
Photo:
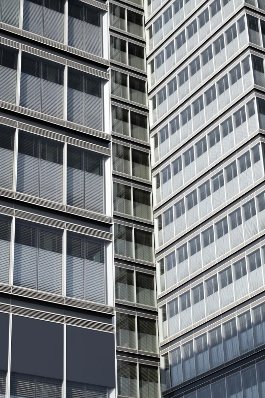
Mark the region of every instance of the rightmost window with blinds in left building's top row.
<instances>
[{"instance_id":1,"label":"rightmost window with blinds in left building's top row","mask_svg":"<svg viewBox=\"0 0 265 398\"><path fill-rule=\"evenodd\" d=\"M102 56L102 15L99 9L75 0L69 2L68 45Z\"/></svg>"}]
</instances>

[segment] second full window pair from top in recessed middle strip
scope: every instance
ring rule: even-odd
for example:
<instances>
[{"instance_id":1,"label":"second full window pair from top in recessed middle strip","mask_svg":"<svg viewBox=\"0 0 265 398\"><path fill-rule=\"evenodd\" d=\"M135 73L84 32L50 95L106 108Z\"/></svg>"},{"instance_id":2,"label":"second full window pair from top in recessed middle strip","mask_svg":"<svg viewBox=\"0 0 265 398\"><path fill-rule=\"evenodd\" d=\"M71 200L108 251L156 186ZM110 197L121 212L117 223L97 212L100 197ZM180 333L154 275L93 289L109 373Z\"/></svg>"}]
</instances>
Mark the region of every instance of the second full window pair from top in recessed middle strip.
<instances>
[{"instance_id":1,"label":"second full window pair from top in recessed middle strip","mask_svg":"<svg viewBox=\"0 0 265 398\"><path fill-rule=\"evenodd\" d=\"M145 71L145 48L119 37L110 36L110 58Z\"/></svg>"}]
</instances>

